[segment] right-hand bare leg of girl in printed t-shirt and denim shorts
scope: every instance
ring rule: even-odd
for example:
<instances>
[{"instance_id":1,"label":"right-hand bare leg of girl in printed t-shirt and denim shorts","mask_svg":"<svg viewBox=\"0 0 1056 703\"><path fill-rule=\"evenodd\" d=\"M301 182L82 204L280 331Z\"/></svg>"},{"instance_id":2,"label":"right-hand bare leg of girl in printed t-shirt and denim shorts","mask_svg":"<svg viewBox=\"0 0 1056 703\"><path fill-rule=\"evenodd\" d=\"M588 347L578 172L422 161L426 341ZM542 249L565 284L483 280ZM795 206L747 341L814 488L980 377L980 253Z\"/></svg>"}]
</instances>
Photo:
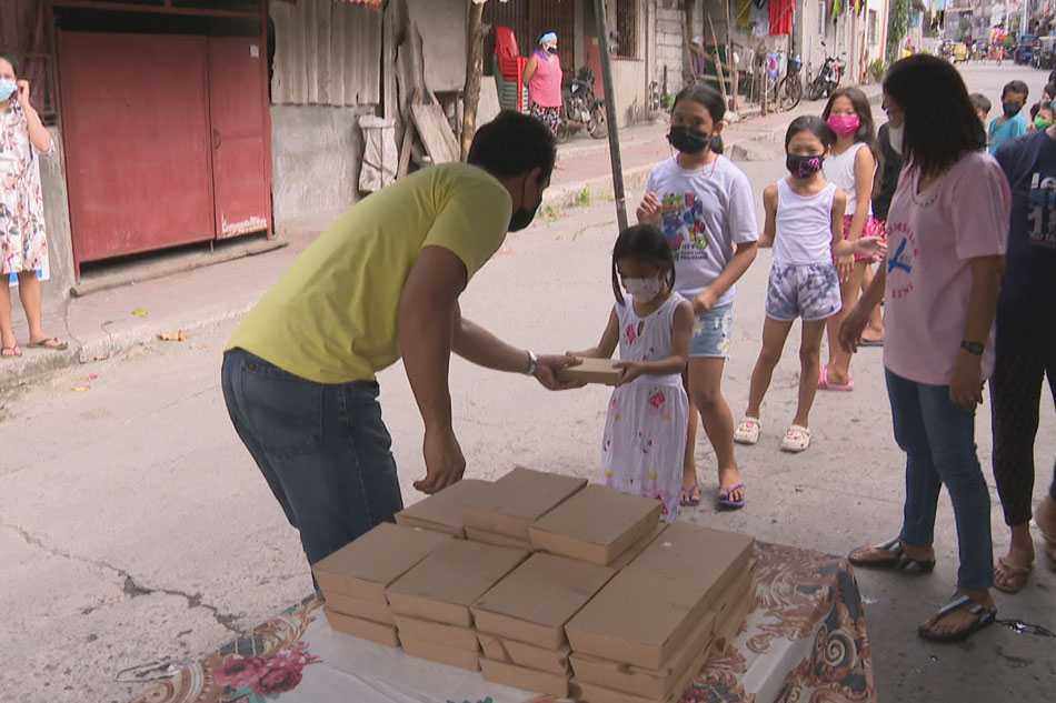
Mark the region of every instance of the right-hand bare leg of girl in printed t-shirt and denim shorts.
<instances>
[{"instance_id":1,"label":"right-hand bare leg of girl in printed t-shirt and denim shorts","mask_svg":"<svg viewBox=\"0 0 1056 703\"><path fill-rule=\"evenodd\" d=\"M734 416L723 398L723 370L726 359L695 358L689 360L689 398L700 412L704 431L715 449L719 468L719 485L731 489L741 483L737 460L734 458ZM744 489L733 491L729 500L745 496Z\"/></svg>"}]
</instances>

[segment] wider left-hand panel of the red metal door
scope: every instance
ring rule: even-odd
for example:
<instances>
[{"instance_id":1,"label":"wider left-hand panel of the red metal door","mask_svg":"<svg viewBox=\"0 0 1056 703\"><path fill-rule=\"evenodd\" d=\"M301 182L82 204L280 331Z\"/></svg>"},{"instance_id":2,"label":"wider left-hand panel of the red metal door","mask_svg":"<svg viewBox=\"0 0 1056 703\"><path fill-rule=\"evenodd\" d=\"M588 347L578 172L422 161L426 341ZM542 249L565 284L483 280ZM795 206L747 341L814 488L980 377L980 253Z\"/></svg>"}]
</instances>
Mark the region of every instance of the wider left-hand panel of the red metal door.
<instances>
[{"instance_id":1,"label":"wider left-hand panel of the red metal door","mask_svg":"<svg viewBox=\"0 0 1056 703\"><path fill-rule=\"evenodd\" d=\"M215 237L206 38L59 32L81 262Z\"/></svg>"}]
</instances>

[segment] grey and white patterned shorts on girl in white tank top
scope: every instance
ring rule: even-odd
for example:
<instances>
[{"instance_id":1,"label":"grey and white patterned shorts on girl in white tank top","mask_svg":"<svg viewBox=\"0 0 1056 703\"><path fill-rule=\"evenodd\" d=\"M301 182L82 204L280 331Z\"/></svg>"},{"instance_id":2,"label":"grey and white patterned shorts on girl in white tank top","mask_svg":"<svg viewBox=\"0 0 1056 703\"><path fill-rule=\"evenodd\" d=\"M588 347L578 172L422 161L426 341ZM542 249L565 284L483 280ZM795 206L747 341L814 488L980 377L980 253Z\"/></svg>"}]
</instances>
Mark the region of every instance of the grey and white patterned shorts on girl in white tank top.
<instances>
[{"instance_id":1,"label":"grey and white patterned shorts on girl in white tank top","mask_svg":"<svg viewBox=\"0 0 1056 703\"><path fill-rule=\"evenodd\" d=\"M825 320L839 312L839 278L831 263L774 264L766 287L766 317L779 322Z\"/></svg>"}]
</instances>

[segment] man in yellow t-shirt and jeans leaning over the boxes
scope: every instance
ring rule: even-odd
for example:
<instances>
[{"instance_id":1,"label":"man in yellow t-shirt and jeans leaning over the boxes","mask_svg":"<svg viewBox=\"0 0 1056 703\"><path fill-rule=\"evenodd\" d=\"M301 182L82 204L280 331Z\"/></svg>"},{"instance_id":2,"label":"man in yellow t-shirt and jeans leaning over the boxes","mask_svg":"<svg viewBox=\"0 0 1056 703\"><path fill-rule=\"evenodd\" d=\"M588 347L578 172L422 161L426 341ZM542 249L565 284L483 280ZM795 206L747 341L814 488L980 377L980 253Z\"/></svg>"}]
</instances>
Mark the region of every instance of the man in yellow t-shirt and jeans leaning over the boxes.
<instances>
[{"instance_id":1,"label":"man in yellow t-shirt and jeans leaning over the boxes","mask_svg":"<svg viewBox=\"0 0 1056 703\"><path fill-rule=\"evenodd\" d=\"M504 112L469 163L422 169L352 207L257 303L228 342L223 399L309 563L402 509L376 373L401 356L425 421L435 493L466 468L451 424L451 352L566 388L565 356L537 356L461 317L458 297L527 227L550 182L549 130Z\"/></svg>"}]
</instances>

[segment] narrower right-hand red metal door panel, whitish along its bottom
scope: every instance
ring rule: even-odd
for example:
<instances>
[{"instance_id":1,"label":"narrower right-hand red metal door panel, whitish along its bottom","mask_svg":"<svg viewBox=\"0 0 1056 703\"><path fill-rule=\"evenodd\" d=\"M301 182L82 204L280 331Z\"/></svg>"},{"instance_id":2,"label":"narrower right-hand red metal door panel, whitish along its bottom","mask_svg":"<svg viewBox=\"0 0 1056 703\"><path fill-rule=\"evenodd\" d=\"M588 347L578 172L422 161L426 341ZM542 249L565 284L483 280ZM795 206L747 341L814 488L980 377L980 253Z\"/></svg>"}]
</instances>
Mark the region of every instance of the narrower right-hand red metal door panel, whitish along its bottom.
<instances>
[{"instance_id":1,"label":"narrower right-hand red metal door panel, whitish along its bottom","mask_svg":"<svg viewBox=\"0 0 1056 703\"><path fill-rule=\"evenodd\" d=\"M266 61L259 39L209 38L217 238L271 231Z\"/></svg>"}]
</instances>

